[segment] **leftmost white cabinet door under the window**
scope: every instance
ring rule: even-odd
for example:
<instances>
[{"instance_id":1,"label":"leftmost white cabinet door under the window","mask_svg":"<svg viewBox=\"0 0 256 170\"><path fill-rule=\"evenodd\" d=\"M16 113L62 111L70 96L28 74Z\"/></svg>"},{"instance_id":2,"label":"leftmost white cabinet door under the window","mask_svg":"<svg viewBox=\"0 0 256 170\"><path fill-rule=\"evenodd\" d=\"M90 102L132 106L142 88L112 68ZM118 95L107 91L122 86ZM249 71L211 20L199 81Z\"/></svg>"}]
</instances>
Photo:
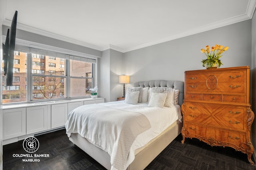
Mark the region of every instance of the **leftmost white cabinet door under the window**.
<instances>
[{"instance_id":1,"label":"leftmost white cabinet door under the window","mask_svg":"<svg viewBox=\"0 0 256 170\"><path fill-rule=\"evenodd\" d=\"M3 140L26 134L26 108L3 110Z\"/></svg>"}]
</instances>

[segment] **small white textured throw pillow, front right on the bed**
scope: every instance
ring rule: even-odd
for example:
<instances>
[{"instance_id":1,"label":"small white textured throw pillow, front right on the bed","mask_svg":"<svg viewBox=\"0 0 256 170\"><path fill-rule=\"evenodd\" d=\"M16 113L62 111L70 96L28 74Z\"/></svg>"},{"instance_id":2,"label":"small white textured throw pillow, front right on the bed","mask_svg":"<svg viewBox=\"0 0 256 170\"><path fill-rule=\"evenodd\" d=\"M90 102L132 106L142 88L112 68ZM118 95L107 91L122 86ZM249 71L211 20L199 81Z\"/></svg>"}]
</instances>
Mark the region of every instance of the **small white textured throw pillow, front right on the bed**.
<instances>
[{"instance_id":1,"label":"small white textured throw pillow, front right on the bed","mask_svg":"<svg viewBox=\"0 0 256 170\"><path fill-rule=\"evenodd\" d=\"M167 93L152 93L150 101L148 103L148 107L163 108L166 97Z\"/></svg>"}]
</instances>

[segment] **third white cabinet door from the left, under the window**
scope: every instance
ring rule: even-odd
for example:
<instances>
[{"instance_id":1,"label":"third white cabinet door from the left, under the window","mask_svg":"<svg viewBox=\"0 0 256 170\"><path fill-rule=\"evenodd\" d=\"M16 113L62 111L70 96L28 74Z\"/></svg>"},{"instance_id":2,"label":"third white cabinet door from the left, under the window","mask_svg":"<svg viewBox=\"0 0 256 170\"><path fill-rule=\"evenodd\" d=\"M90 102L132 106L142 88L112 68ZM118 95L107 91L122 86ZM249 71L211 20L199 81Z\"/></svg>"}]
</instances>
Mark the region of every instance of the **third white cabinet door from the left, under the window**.
<instances>
[{"instance_id":1,"label":"third white cabinet door from the left, under the window","mask_svg":"<svg viewBox=\"0 0 256 170\"><path fill-rule=\"evenodd\" d=\"M51 108L51 127L58 128L65 126L68 120L68 104L52 104Z\"/></svg>"}]
</instances>

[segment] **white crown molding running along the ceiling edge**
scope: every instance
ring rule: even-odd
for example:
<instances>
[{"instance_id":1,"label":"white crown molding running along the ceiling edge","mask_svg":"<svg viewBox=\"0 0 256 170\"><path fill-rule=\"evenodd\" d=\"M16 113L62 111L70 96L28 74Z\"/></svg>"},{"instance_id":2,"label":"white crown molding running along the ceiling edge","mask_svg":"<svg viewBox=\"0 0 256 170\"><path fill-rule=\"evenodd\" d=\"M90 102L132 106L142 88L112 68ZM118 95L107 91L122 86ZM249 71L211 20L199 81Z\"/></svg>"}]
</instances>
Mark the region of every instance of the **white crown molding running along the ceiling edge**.
<instances>
[{"instance_id":1,"label":"white crown molding running along the ceiling edge","mask_svg":"<svg viewBox=\"0 0 256 170\"><path fill-rule=\"evenodd\" d=\"M2 0L2 1L6 2L6 0ZM65 36L54 34L54 33L51 33L51 32L45 31L45 30L41 30L41 29L34 28L34 27L31 27L31 26L27 26L25 24L20 24L20 23L17 23L17 28L20 29L20 30L24 30L24 31L35 33L35 34L39 34L39 35L42 35L42 36L47 36L47 37L50 37L50 38L62 40L62 41L69 42L69 43L72 43L72 44L77 44L77 45L80 45L80 46L92 48L94 50L104 51L104 50L107 50L107 49L112 49L112 50L116 50L116 51L124 53L124 52L138 50L140 48L145 48L145 47L148 47L148 46L160 44L160 43L167 42L167 41L170 41L170 40L175 40L175 39L182 38L182 37L185 37L185 36L198 34L200 32L205 32L205 31L208 31L208 30L220 28L222 26L227 26L227 25L230 25L230 24L235 24L235 23L238 23L238 22L242 22L244 20L251 19L253 14L254 14L255 8L256 8L256 0L249 0L245 14L235 16L235 17L232 17L232 18L228 18L226 20L222 20L222 21L219 21L219 22L215 22L215 23L212 23L212 24L205 25L205 26L201 26L201 27L198 27L198 28L195 28L195 29L192 29L192 30L188 30L186 32L181 32L180 34L176 34L174 36L169 36L169 37L166 37L166 38L163 38L163 39L160 39L160 40L156 40L156 41L153 41L153 42L146 42L144 44L140 44L140 45L137 45L137 46L132 46L132 47L129 47L129 48L120 48L120 47L117 47L117 46L114 46L114 45L111 45L111 44L108 44L108 45L103 46L103 47L95 46L95 45L92 45L92 44L89 44L89 43L86 43L86 42L74 40L72 38L68 38L68 37L65 37ZM11 25L11 20L5 19L5 20L3 20L2 24L6 25L6 26L10 26Z\"/></svg>"}]
</instances>

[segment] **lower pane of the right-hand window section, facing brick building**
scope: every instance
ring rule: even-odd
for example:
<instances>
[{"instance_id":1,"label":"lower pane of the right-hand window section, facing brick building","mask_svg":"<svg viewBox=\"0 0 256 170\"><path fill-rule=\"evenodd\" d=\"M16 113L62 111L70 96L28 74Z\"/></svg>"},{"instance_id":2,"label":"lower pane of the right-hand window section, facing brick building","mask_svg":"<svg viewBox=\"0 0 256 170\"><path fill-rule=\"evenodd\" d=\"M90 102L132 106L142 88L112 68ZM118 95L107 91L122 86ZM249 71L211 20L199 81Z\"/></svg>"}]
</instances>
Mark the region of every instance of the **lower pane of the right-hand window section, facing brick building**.
<instances>
[{"instance_id":1,"label":"lower pane of the right-hand window section, facing brick building","mask_svg":"<svg viewBox=\"0 0 256 170\"><path fill-rule=\"evenodd\" d=\"M92 79L70 78L70 97L90 96L91 92L89 89L92 88L91 82Z\"/></svg>"}]
</instances>

